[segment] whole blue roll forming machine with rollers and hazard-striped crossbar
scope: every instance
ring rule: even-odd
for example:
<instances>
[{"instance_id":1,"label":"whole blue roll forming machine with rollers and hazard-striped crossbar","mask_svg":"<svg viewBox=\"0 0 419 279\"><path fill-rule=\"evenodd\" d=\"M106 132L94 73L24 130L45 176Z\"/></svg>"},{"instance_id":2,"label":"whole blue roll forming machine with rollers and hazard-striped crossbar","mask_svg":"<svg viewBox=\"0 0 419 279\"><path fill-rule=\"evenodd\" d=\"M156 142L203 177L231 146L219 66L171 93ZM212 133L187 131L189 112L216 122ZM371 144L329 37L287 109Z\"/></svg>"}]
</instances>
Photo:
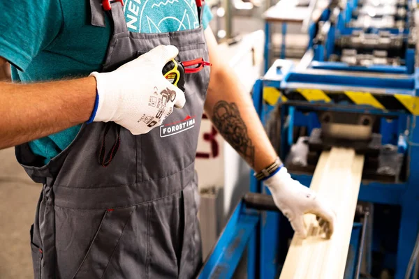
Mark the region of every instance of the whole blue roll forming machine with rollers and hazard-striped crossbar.
<instances>
[{"instance_id":1,"label":"whole blue roll forming machine with rollers and hazard-striped crossbar","mask_svg":"<svg viewBox=\"0 0 419 279\"><path fill-rule=\"evenodd\" d=\"M355 257L348 257L345 278L383 272L413 278L419 232L416 1L321 6L300 63L275 61L256 82L253 103L277 153L304 185L321 152L332 146L365 155L358 197L364 217L354 220ZM253 176L251 192L269 195ZM244 250L248 278L278 278L292 230L280 213L256 207L240 202L200 278L230 278ZM366 229L365 212L372 209Z\"/></svg>"}]
</instances>

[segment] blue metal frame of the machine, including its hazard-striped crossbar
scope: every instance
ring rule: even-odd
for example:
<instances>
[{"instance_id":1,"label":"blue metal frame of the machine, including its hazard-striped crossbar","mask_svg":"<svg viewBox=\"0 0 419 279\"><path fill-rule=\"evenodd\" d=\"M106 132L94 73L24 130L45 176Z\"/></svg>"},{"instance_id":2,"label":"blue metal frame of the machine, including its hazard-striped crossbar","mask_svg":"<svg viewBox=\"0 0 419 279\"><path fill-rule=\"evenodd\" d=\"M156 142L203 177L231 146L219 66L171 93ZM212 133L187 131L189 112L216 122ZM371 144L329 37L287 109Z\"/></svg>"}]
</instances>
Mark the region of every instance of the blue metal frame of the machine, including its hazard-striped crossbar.
<instances>
[{"instance_id":1,"label":"blue metal frame of the machine, including its hazard-striped crossbar","mask_svg":"<svg viewBox=\"0 0 419 279\"><path fill-rule=\"evenodd\" d=\"M416 1L409 0L406 10L412 10ZM401 66L349 66L328 61L341 50L335 45L340 36L353 34L359 28L350 27L353 10L358 0L346 1L346 7L334 13L337 6L323 10L320 20L329 22L325 40L314 40L319 28L317 22L309 26L309 46L302 66L277 60L269 68L270 41L265 42L265 70L267 73L253 87L253 105L264 125L277 105L281 106L281 153L284 160L295 144L293 127L307 128L307 134L319 128L317 112L372 114L379 119L381 144L397 146L404 156L402 179L394 183L362 180L358 200L374 204L399 206L399 227L395 236L397 253L385 262L386 268L395 270L395 279L405 276L406 268L419 233L419 69L415 68L415 47L409 42L409 28L372 29L368 33L388 31L402 36L404 49L399 57ZM330 20L332 15L333 20ZM405 18L406 26L411 14ZM270 23L265 23L267 38ZM283 36L286 24L282 24ZM284 42L284 41L283 41ZM285 54L281 47L281 58ZM334 98L333 96L345 98ZM338 96L338 97L339 97ZM301 110L304 109L304 114ZM309 111L309 112L307 112ZM311 174L291 173L303 185L309 186ZM270 194L269 190L251 175L253 193ZM240 202L224 229L212 254L201 270L199 278L231 278L247 248L247 278L277 278L285 258L284 217L277 212L246 209ZM358 250L359 224L354 223L351 249ZM287 235L288 236L288 235ZM396 246L396 245L395 245ZM367 247L366 247L367 248ZM369 247L371 249L371 247ZM367 255L371 255L371 251ZM367 259L367 262L371 259ZM351 266L351 264L348 264ZM350 275L355 276L353 268Z\"/></svg>"}]
</instances>

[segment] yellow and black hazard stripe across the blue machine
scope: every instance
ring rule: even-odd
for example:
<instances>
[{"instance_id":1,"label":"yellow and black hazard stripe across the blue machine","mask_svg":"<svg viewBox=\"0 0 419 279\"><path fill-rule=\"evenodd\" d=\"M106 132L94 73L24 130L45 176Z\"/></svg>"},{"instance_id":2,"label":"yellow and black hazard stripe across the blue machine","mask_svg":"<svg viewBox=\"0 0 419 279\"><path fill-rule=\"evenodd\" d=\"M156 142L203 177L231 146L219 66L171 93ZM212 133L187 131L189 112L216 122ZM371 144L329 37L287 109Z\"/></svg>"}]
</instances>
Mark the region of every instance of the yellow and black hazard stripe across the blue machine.
<instances>
[{"instance_id":1,"label":"yellow and black hazard stripe across the blue machine","mask_svg":"<svg viewBox=\"0 0 419 279\"><path fill-rule=\"evenodd\" d=\"M365 91L324 91L320 89L263 88L263 99L270 105L288 100L302 102L360 105L376 109L419 115L419 97L402 94L377 94Z\"/></svg>"}]
</instances>

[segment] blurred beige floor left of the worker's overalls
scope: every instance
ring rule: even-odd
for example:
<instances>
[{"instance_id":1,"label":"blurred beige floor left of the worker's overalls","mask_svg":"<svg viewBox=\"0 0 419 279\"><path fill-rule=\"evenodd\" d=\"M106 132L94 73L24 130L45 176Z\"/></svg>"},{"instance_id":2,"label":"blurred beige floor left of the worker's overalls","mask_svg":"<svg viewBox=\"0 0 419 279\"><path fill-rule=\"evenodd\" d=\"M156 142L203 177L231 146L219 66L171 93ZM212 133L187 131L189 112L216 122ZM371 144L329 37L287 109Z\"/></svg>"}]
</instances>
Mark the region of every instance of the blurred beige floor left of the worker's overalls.
<instances>
[{"instance_id":1,"label":"blurred beige floor left of the worker's overalls","mask_svg":"<svg viewBox=\"0 0 419 279\"><path fill-rule=\"evenodd\" d=\"M15 159L15 149L0 151L0 279L34 278L29 229L41 185Z\"/></svg>"}]
</instances>

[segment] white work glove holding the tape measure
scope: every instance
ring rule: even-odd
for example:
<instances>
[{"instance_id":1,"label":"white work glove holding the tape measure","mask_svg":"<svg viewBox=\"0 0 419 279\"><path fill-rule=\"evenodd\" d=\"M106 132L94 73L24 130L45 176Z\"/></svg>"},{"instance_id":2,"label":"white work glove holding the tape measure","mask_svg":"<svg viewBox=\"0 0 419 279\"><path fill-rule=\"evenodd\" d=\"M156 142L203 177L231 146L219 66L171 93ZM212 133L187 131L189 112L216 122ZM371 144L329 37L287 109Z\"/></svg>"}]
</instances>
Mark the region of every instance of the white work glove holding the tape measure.
<instances>
[{"instance_id":1,"label":"white work glove holding the tape measure","mask_svg":"<svg viewBox=\"0 0 419 279\"><path fill-rule=\"evenodd\" d=\"M161 71L178 50L159 45L110 73L91 73L96 78L98 105L93 121L114 121L133 135L161 126L173 107L185 104L184 92L171 84Z\"/></svg>"}]
</instances>

